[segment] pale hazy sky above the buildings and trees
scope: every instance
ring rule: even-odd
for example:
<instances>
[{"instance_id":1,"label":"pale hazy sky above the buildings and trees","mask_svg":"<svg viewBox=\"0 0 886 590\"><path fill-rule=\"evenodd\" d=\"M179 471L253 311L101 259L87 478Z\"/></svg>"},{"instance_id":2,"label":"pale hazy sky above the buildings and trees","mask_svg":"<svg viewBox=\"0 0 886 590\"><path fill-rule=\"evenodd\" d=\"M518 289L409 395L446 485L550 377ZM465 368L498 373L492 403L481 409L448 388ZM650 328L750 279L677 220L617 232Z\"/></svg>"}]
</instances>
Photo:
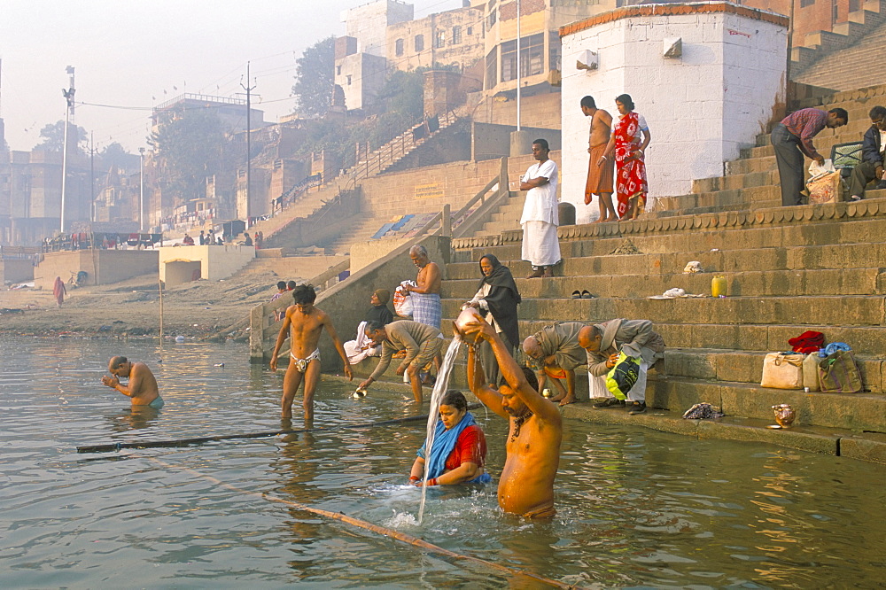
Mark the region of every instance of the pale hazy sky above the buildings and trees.
<instances>
[{"instance_id":1,"label":"pale hazy sky above the buildings and trees","mask_svg":"<svg viewBox=\"0 0 886 590\"><path fill-rule=\"evenodd\" d=\"M323 37L344 35L341 11L361 4L367 0L0 0L6 142L30 150L44 125L64 120L66 66L75 68L74 122L94 133L98 149L144 146L152 106L183 92L243 92L247 61L255 106L276 122L294 105L295 59ZM462 1L411 4L423 18Z\"/></svg>"}]
</instances>

